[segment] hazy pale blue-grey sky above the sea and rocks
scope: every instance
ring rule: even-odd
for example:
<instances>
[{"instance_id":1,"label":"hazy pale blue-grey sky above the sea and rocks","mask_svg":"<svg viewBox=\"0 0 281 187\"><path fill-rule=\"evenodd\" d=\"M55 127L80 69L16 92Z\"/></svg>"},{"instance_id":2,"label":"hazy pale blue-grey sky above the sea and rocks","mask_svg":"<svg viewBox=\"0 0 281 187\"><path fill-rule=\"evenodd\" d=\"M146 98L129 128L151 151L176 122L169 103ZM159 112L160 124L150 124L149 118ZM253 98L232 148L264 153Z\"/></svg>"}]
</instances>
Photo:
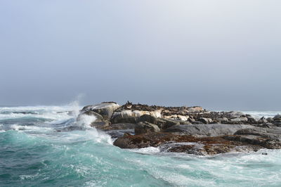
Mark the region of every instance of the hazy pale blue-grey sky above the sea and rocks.
<instances>
[{"instance_id":1,"label":"hazy pale blue-grey sky above the sea and rocks","mask_svg":"<svg viewBox=\"0 0 281 187\"><path fill-rule=\"evenodd\" d=\"M0 0L0 105L281 110L280 0Z\"/></svg>"}]
</instances>

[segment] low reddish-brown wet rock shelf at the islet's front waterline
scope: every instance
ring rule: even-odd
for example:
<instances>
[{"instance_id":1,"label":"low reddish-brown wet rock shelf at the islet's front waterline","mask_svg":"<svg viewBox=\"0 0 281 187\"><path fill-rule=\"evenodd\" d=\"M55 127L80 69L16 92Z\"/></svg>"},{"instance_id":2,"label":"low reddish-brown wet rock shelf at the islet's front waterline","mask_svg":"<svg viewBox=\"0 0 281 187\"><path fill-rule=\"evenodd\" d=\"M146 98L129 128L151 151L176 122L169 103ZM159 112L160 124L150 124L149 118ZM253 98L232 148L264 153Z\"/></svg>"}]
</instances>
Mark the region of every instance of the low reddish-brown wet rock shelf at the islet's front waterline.
<instances>
[{"instance_id":1,"label":"low reddish-brown wet rock shelf at the islet's front waterline","mask_svg":"<svg viewBox=\"0 0 281 187\"><path fill-rule=\"evenodd\" d=\"M215 155L233 150L259 150L261 146L228 141L222 137L180 136L169 133L152 133L132 136L124 134L113 145L119 148L159 147L165 152L189 153L195 155Z\"/></svg>"}]
</instances>

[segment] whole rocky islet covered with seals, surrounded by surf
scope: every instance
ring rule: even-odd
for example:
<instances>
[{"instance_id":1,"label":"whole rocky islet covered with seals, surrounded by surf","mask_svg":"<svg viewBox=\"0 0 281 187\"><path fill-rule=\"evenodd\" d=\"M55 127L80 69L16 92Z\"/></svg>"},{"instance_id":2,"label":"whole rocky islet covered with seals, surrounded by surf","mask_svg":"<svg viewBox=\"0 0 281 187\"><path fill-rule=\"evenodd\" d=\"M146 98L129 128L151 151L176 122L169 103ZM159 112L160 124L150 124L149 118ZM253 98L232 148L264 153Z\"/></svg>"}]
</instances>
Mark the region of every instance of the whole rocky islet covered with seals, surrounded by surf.
<instances>
[{"instance_id":1,"label":"whole rocky islet covered with seals, surrounded by surf","mask_svg":"<svg viewBox=\"0 0 281 187\"><path fill-rule=\"evenodd\" d=\"M281 115L256 119L243 112L214 112L195 107L125 105L103 102L85 106L92 127L115 138L119 148L158 147L164 152L215 155L231 151L281 148Z\"/></svg>"}]
</instances>

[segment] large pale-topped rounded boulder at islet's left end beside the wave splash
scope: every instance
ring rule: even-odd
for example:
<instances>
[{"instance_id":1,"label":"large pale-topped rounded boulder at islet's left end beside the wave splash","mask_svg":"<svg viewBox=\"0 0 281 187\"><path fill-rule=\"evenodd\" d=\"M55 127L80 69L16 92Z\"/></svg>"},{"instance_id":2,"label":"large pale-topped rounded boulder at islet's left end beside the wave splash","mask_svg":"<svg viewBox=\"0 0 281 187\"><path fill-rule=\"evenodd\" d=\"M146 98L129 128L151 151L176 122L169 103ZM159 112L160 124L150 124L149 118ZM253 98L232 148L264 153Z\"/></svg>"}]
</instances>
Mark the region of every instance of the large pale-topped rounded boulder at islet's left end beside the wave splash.
<instances>
[{"instance_id":1,"label":"large pale-topped rounded boulder at islet's left end beside the wave splash","mask_svg":"<svg viewBox=\"0 0 281 187\"><path fill-rule=\"evenodd\" d=\"M100 103L96 105L87 105L81 112L93 111L103 116L105 120L110 120L113 112L120 106L117 103Z\"/></svg>"}]
</instances>

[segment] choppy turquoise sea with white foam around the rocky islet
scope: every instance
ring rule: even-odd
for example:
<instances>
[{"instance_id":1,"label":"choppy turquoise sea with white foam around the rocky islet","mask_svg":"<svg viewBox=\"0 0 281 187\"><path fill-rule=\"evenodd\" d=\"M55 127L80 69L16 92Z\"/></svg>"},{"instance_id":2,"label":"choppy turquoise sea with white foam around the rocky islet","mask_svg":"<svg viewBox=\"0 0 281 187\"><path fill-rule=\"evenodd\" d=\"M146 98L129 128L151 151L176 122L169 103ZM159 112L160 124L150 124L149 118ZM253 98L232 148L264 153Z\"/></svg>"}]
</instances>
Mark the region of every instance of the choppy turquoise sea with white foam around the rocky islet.
<instances>
[{"instance_id":1,"label":"choppy turquoise sea with white foam around the rocky islet","mask_svg":"<svg viewBox=\"0 0 281 187\"><path fill-rule=\"evenodd\" d=\"M122 150L77 124L72 109L0 108L0 186L281 186L280 150L214 157Z\"/></svg>"}]
</instances>

